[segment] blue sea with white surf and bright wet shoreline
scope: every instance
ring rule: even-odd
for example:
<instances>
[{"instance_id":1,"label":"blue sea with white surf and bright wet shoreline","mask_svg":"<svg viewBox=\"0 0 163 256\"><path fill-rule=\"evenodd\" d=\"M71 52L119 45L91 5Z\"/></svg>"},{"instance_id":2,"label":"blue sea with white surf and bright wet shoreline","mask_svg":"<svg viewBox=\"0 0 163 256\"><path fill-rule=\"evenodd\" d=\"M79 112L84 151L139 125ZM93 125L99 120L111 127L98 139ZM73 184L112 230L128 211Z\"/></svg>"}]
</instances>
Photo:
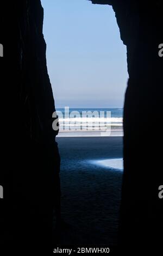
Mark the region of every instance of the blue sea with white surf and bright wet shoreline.
<instances>
[{"instance_id":1,"label":"blue sea with white surf and bright wet shoreline","mask_svg":"<svg viewBox=\"0 0 163 256\"><path fill-rule=\"evenodd\" d=\"M123 136L123 108L57 108L58 137Z\"/></svg>"}]
</instances>

